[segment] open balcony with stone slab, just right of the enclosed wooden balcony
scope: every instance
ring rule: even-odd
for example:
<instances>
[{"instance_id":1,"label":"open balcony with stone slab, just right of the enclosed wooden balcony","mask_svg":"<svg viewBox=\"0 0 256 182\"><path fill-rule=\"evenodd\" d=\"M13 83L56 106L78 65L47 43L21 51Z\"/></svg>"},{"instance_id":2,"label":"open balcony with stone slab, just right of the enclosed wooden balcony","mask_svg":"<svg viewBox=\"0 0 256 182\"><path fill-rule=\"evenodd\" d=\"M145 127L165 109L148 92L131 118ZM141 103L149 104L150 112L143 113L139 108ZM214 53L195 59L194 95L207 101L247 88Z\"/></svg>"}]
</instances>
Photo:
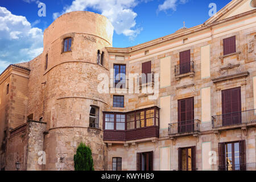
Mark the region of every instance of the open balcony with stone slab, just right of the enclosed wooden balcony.
<instances>
[{"instance_id":1,"label":"open balcony with stone slab, just right of the enclosed wooden balcony","mask_svg":"<svg viewBox=\"0 0 256 182\"><path fill-rule=\"evenodd\" d=\"M199 119L171 123L168 127L169 137L171 139L188 135L197 137L200 134L200 123Z\"/></svg>"}]
</instances>

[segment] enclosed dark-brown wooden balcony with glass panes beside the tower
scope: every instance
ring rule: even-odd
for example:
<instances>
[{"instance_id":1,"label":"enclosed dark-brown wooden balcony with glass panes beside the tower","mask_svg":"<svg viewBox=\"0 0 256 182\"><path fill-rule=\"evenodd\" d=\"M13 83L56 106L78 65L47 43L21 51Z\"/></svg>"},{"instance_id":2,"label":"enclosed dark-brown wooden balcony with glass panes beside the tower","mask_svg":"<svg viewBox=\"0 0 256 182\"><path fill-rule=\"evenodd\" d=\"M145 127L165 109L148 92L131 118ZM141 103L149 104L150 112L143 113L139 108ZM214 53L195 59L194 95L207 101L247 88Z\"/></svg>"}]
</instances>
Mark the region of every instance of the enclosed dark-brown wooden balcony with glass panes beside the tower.
<instances>
[{"instance_id":1,"label":"enclosed dark-brown wooden balcony with glass panes beside the tower","mask_svg":"<svg viewBox=\"0 0 256 182\"><path fill-rule=\"evenodd\" d=\"M159 138L159 108L130 111L127 113L104 112L104 138L113 143Z\"/></svg>"}]
</instances>

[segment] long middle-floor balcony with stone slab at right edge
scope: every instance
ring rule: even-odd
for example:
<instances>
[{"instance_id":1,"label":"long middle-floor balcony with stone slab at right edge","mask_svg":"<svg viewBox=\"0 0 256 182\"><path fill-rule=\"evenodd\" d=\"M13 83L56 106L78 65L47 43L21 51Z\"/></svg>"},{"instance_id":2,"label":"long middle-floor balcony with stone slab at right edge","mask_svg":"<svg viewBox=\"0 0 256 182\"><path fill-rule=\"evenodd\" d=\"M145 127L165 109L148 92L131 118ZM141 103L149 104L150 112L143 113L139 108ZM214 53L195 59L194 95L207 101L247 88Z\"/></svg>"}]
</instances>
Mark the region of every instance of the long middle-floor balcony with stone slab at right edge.
<instances>
[{"instance_id":1,"label":"long middle-floor balcony with stone slab at right edge","mask_svg":"<svg viewBox=\"0 0 256 182\"><path fill-rule=\"evenodd\" d=\"M213 130L245 128L256 125L256 109L214 115Z\"/></svg>"}]
</instances>

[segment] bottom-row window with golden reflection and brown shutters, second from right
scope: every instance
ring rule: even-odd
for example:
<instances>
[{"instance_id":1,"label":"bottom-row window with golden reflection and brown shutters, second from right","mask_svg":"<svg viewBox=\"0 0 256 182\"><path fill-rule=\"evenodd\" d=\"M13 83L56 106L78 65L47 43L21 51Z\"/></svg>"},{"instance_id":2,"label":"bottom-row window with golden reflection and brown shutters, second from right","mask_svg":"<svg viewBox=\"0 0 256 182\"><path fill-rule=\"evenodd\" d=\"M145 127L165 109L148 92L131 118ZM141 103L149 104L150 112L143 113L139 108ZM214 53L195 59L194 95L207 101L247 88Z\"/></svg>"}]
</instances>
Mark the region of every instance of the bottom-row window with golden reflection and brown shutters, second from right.
<instances>
[{"instance_id":1,"label":"bottom-row window with golden reflection and brown shutters, second from right","mask_svg":"<svg viewBox=\"0 0 256 182\"><path fill-rule=\"evenodd\" d=\"M179 171L196 170L196 147L179 148Z\"/></svg>"}]
</instances>

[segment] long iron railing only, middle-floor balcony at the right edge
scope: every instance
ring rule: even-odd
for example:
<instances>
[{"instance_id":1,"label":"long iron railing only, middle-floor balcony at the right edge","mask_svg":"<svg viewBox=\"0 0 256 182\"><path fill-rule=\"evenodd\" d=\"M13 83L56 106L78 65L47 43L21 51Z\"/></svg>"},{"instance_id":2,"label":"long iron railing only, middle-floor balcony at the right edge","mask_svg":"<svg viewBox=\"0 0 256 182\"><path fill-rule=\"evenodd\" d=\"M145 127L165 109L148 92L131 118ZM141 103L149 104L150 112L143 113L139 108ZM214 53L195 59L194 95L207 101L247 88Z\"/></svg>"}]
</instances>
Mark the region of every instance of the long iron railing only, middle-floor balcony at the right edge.
<instances>
[{"instance_id":1,"label":"long iron railing only, middle-floor balcony at the right edge","mask_svg":"<svg viewBox=\"0 0 256 182\"><path fill-rule=\"evenodd\" d=\"M214 115L212 117L212 127L242 125L243 123L256 122L256 109L238 111L234 113Z\"/></svg>"}]
</instances>

